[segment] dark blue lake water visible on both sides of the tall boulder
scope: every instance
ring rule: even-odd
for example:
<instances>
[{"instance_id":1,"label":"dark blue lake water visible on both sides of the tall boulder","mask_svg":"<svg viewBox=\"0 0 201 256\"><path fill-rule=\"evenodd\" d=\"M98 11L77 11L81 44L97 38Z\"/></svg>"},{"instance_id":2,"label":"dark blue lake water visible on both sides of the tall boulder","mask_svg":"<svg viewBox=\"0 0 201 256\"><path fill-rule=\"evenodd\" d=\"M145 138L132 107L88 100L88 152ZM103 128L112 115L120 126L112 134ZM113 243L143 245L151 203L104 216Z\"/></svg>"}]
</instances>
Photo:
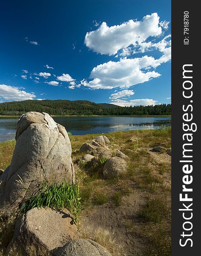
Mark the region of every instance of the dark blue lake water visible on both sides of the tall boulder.
<instances>
[{"instance_id":1,"label":"dark blue lake water visible on both sides of the tall boulder","mask_svg":"<svg viewBox=\"0 0 201 256\"><path fill-rule=\"evenodd\" d=\"M0 117L0 142L14 139L18 119ZM171 123L171 117L55 116L53 119L73 135L155 129Z\"/></svg>"}]
</instances>

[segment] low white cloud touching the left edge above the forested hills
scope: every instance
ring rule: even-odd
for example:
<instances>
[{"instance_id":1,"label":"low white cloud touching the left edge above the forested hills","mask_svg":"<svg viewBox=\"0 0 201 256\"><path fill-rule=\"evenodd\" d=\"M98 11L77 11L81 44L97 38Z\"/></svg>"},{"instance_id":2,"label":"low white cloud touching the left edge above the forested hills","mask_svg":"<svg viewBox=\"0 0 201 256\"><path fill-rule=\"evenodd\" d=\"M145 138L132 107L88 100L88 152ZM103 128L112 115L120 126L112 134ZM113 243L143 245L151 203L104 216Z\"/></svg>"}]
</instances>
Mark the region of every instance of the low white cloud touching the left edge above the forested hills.
<instances>
[{"instance_id":1,"label":"low white cloud touching the left edge above the forested hills","mask_svg":"<svg viewBox=\"0 0 201 256\"><path fill-rule=\"evenodd\" d=\"M21 101L34 99L34 93L27 93L19 87L14 87L6 84L0 84L0 98L6 101Z\"/></svg>"}]
</instances>

